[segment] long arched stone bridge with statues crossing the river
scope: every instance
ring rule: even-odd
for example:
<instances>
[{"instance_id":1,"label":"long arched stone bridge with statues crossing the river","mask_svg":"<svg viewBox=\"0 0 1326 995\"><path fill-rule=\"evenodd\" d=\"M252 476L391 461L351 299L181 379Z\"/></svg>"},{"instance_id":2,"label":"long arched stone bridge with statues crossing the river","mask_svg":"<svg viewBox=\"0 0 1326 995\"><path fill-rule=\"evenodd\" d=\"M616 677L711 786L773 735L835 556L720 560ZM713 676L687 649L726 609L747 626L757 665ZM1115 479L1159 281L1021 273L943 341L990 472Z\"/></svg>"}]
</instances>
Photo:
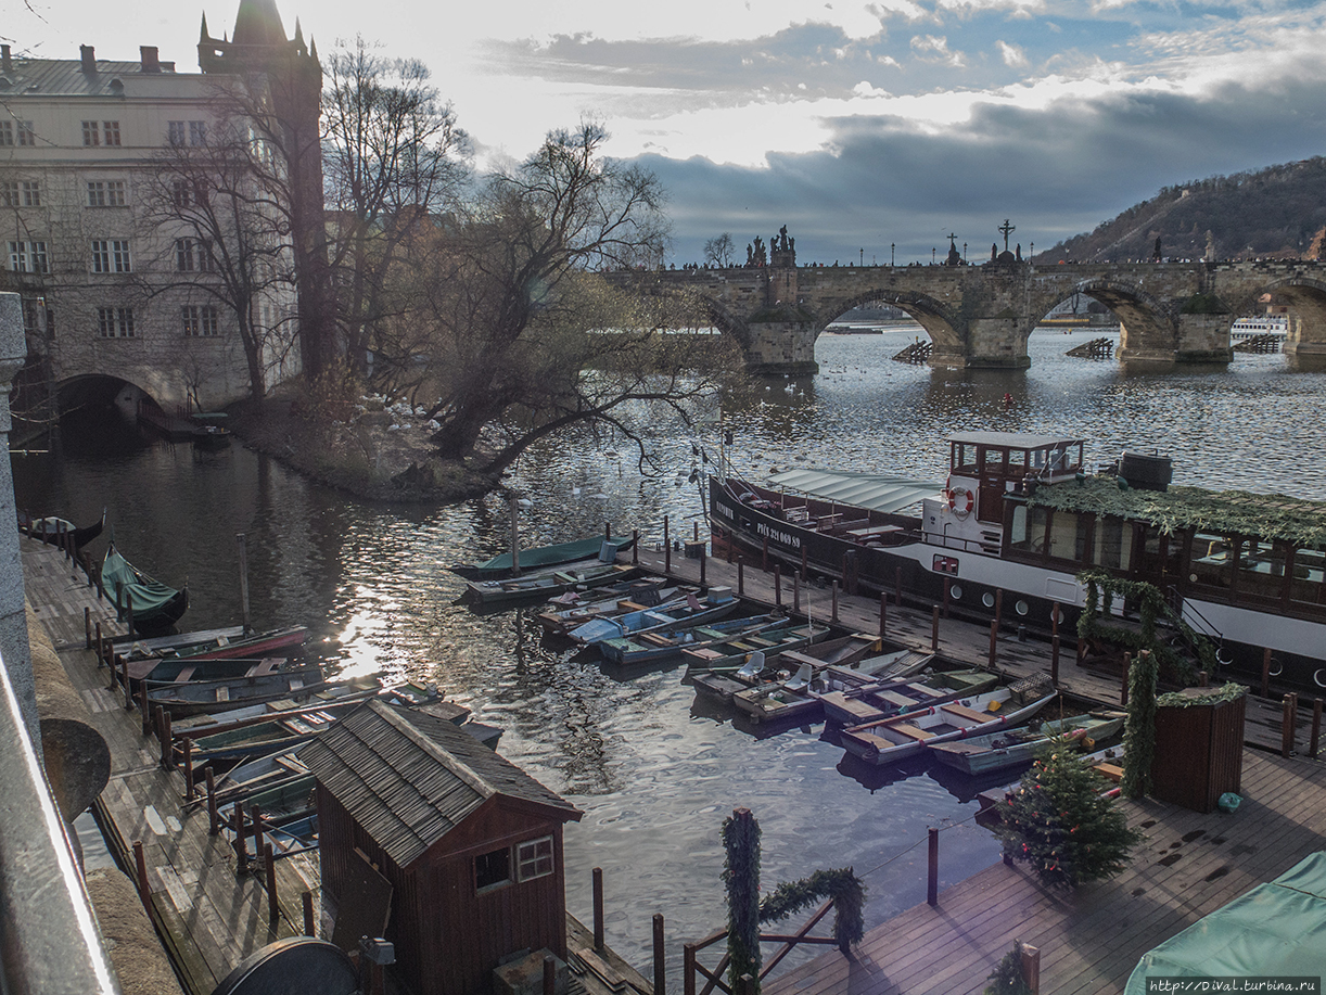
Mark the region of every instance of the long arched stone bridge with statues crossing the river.
<instances>
[{"instance_id":1,"label":"long arched stone bridge with statues crossing the river","mask_svg":"<svg viewBox=\"0 0 1326 995\"><path fill-rule=\"evenodd\" d=\"M934 342L935 366L1020 369L1026 338L1057 304L1085 293L1120 322L1130 364L1229 362L1229 326L1274 293L1289 305L1289 354L1326 356L1326 264L1101 263L1038 265L798 267L793 251L758 268L613 273L640 293L697 297L716 328L735 336L754 370L809 373L815 340L859 305L907 312Z\"/></svg>"}]
</instances>

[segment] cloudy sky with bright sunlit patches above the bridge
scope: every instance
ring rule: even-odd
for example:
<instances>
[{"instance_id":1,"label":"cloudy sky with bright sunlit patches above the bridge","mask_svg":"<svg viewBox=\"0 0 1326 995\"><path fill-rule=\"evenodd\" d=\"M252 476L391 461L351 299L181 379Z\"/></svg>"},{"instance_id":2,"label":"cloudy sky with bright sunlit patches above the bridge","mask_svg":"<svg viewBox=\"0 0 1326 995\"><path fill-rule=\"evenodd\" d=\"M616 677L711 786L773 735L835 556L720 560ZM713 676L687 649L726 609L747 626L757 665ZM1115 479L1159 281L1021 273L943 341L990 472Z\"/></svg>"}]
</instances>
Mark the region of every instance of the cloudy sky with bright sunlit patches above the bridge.
<instances>
[{"instance_id":1,"label":"cloudy sky with bright sunlit patches above the bridge","mask_svg":"<svg viewBox=\"0 0 1326 995\"><path fill-rule=\"evenodd\" d=\"M418 57L484 153L601 117L671 191L672 260L780 226L798 261L1089 231L1162 186L1323 153L1326 0L278 0L326 54ZM17 52L196 70L237 0L0 0ZM131 13L130 13L131 11Z\"/></svg>"}]
</instances>

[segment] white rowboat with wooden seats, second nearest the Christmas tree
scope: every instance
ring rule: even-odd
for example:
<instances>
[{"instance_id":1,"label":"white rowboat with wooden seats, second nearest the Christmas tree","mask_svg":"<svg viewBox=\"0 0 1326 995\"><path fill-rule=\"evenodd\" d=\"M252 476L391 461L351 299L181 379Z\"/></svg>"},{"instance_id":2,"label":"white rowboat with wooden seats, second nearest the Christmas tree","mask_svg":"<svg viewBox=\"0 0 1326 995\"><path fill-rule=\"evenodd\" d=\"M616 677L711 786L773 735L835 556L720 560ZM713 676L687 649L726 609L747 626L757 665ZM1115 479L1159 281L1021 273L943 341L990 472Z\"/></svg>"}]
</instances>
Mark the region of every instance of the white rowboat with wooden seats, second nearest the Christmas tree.
<instances>
[{"instance_id":1,"label":"white rowboat with wooden seats, second nearest the Christmas tree","mask_svg":"<svg viewBox=\"0 0 1326 995\"><path fill-rule=\"evenodd\" d=\"M1034 683L1034 687L1032 685ZM1033 696L1045 683L1032 679L969 698L934 704L880 722L842 730L849 754L875 765L924 752L926 744L947 743L985 732L1014 728L1054 700L1057 691ZM1025 690L1024 690L1025 689Z\"/></svg>"}]
</instances>

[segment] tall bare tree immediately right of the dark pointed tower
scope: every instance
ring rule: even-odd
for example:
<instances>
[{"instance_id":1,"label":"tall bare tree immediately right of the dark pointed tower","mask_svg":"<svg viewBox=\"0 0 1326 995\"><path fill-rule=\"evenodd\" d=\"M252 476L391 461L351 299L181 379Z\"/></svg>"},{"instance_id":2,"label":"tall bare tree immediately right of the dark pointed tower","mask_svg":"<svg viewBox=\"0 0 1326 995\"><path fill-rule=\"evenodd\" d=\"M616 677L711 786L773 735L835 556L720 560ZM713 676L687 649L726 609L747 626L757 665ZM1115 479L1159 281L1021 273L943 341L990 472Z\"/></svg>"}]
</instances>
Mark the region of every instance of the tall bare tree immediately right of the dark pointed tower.
<instances>
[{"instance_id":1,"label":"tall bare tree immediately right of the dark pointed tower","mask_svg":"<svg viewBox=\"0 0 1326 995\"><path fill-rule=\"evenodd\" d=\"M465 133L415 60L382 58L362 37L326 62L322 162L332 211L337 318L350 369L365 375L370 350L389 370L386 318L408 306L412 281L394 268L415 235L453 200L467 175Z\"/></svg>"}]
</instances>

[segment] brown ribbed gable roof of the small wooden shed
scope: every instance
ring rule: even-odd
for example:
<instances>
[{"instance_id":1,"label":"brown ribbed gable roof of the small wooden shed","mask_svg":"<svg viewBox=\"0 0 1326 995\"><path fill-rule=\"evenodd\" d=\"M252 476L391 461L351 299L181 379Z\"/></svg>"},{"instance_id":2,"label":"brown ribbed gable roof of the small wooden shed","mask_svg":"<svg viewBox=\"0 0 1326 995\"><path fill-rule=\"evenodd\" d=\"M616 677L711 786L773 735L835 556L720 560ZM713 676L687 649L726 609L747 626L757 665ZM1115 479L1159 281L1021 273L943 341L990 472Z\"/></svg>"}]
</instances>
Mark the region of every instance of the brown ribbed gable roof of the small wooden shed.
<instances>
[{"instance_id":1,"label":"brown ribbed gable roof of the small wooden shed","mask_svg":"<svg viewBox=\"0 0 1326 995\"><path fill-rule=\"evenodd\" d=\"M536 805L562 821L581 812L446 719L367 702L300 758L398 866L493 797Z\"/></svg>"}]
</instances>

